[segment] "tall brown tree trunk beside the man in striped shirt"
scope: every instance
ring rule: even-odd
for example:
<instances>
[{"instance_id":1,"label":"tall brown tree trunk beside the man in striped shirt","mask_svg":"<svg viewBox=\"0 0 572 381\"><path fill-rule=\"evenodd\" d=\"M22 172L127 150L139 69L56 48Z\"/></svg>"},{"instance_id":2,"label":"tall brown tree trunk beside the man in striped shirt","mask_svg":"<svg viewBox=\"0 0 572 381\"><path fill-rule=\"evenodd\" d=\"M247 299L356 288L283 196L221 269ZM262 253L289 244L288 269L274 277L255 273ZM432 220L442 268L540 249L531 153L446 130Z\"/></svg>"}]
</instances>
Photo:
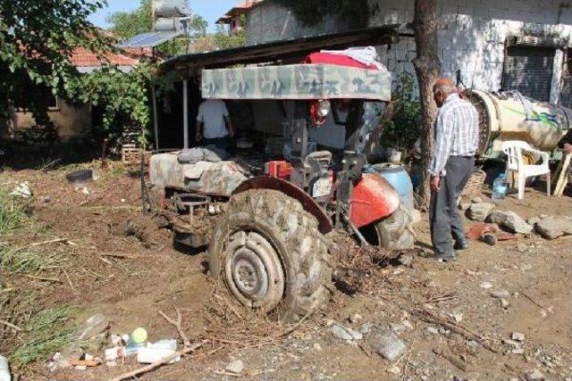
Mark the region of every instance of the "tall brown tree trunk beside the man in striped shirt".
<instances>
[{"instance_id":1,"label":"tall brown tree trunk beside the man in striped shirt","mask_svg":"<svg viewBox=\"0 0 572 381\"><path fill-rule=\"evenodd\" d=\"M417 190L420 208L426 209L431 197L429 188L429 165L433 153L433 124L437 115L437 105L433 101L433 84L441 73L437 30L439 15L437 0L416 0L413 19L415 31L416 59L413 60L417 81L419 83L419 99L421 101L421 183Z\"/></svg>"}]
</instances>

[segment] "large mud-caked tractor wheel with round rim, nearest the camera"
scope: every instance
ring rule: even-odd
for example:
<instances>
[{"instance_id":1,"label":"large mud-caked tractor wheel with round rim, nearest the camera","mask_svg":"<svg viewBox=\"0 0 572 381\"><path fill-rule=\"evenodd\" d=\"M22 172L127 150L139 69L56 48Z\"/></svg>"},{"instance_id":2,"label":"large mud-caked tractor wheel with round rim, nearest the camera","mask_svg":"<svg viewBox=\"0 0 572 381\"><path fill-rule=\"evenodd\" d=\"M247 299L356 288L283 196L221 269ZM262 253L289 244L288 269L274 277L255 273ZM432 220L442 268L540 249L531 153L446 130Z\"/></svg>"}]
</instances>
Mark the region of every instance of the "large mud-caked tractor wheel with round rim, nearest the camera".
<instances>
[{"instance_id":1,"label":"large mud-caked tractor wheel with round rim, nearest the camera","mask_svg":"<svg viewBox=\"0 0 572 381\"><path fill-rule=\"evenodd\" d=\"M242 305L299 321L329 298L328 239L315 217L267 189L233 196L208 251L211 276Z\"/></svg>"}]
</instances>

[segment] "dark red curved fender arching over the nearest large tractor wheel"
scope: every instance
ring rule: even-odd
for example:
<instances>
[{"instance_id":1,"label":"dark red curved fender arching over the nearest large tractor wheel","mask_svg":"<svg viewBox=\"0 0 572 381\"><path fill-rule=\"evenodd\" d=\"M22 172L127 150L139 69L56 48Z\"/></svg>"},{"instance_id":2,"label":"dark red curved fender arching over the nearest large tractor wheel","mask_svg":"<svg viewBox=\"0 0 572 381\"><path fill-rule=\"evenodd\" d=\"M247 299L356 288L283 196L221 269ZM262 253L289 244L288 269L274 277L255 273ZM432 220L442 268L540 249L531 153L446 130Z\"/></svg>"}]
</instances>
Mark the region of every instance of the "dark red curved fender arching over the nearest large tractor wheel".
<instances>
[{"instance_id":1,"label":"dark red curved fender arching over the nearest large tractor wheel","mask_svg":"<svg viewBox=\"0 0 572 381\"><path fill-rule=\"evenodd\" d=\"M299 201L304 210L311 213L318 220L318 229L322 234L328 234L332 231L332 219L328 217L325 211L315 203L314 199L306 192L282 178L272 178L269 176L259 176L257 178L249 178L237 187L232 195L238 195L250 189L272 189L282 192Z\"/></svg>"}]
</instances>

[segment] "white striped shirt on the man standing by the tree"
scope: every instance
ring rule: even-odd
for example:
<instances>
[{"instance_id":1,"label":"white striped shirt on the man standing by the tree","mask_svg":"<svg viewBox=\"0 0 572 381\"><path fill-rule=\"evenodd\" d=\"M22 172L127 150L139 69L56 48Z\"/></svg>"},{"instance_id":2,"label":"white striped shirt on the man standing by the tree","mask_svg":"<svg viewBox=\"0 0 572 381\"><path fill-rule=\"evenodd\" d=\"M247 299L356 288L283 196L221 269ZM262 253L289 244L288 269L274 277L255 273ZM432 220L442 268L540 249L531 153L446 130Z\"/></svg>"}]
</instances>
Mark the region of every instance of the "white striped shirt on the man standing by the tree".
<instances>
[{"instance_id":1,"label":"white striped shirt on the man standing by the tree","mask_svg":"<svg viewBox=\"0 0 572 381\"><path fill-rule=\"evenodd\" d=\"M435 122L435 148L429 172L445 176L450 156L475 156L479 145L479 115L475 106L451 94Z\"/></svg>"}]
</instances>

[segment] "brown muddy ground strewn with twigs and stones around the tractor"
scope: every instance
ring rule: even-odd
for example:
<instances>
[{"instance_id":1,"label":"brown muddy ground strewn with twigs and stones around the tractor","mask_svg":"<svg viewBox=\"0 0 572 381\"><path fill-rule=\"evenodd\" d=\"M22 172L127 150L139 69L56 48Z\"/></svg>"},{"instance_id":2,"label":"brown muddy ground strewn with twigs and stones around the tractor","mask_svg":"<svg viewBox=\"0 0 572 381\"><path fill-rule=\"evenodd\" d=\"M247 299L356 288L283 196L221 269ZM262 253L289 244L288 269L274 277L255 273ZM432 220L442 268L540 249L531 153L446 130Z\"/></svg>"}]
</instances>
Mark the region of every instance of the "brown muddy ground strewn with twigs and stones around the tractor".
<instances>
[{"instance_id":1,"label":"brown muddy ground strewn with twigs and stones around the tractor","mask_svg":"<svg viewBox=\"0 0 572 381\"><path fill-rule=\"evenodd\" d=\"M37 311L76 307L73 321L62 324L81 325L102 313L111 333L146 327L151 341L180 338L159 314L175 316L175 308L180 309L184 331L204 346L142 379L232 379L225 371L231 360L243 360L240 377L245 379L508 380L526 379L534 369L546 379L572 378L571 238L518 236L516 242L496 246L472 242L458 262L442 264L426 258L423 248L430 239L424 214L416 226L421 249L410 267L371 266L361 277L339 284L324 311L296 327L275 327L226 305L208 281L202 253L172 248L172 233L141 212L139 179L129 170L112 163L98 170L97 180L85 190L66 182L66 170L0 174L4 186L29 182L35 194L32 216L47 227L11 237L10 244L67 240L38 245L62 259L50 273L40 274L52 280L4 272L1 286L33 288L41 294ZM499 209L524 218L570 216L572 199L529 190L525 201L509 196ZM338 250L349 251L349 257L361 253L357 246L344 246L343 239L338 242ZM504 290L509 292L504 300L492 296ZM399 360L383 360L371 352L367 335L357 342L333 336L334 323L391 328L408 351ZM515 332L525 335L522 351L505 341ZM128 359L113 368L51 373L47 360L20 369L22 379L99 380L139 367Z\"/></svg>"}]
</instances>

